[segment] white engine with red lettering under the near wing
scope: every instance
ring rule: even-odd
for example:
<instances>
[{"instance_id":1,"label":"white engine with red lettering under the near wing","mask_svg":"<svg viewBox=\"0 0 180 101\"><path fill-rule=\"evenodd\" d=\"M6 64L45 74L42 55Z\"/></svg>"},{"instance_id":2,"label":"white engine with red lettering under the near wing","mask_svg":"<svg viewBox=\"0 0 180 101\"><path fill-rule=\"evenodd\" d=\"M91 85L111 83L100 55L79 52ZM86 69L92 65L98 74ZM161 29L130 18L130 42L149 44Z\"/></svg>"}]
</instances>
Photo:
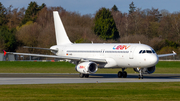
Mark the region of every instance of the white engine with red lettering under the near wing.
<instances>
[{"instance_id":1,"label":"white engine with red lettering under the near wing","mask_svg":"<svg viewBox=\"0 0 180 101\"><path fill-rule=\"evenodd\" d=\"M98 70L98 66L94 62L82 62L78 64L75 69L83 74L93 74Z\"/></svg>"}]
</instances>

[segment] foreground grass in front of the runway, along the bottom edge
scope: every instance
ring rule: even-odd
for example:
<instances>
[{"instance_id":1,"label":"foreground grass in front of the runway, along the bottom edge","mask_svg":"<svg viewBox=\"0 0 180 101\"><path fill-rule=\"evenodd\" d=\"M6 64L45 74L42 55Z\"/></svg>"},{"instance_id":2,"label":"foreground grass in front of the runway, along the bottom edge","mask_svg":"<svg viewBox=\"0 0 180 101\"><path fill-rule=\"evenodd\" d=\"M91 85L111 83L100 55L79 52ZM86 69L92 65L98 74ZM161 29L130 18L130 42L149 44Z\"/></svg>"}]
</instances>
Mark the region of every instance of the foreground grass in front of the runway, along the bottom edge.
<instances>
[{"instance_id":1,"label":"foreground grass in front of the runway, along the bottom edge","mask_svg":"<svg viewBox=\"0 0 180 101\"><path fill-rule=\"evenodd\" d=\"M179 82L1 85L0 100L179 101L179 91Z\"/></svg>"}]
</instances>

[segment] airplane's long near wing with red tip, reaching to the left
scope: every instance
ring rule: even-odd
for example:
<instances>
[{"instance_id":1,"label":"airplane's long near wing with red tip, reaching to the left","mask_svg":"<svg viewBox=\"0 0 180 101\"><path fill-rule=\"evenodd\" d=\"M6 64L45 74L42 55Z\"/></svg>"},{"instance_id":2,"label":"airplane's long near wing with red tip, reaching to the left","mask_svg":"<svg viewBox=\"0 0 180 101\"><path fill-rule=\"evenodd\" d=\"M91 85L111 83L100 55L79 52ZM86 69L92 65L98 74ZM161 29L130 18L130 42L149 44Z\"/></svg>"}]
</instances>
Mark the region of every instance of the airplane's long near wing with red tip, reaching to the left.
<instances>
[{"instance_id":1,"label":"airplane's long near wing with red tip, reaching to the left","mask_svg":"<svg viewBox=\"0 0 180 101\"><path fill-rule=\"evenodd\" d=\"M31 54L31 53L13 53L13 52L7 52L7 54L36 56L36 57L47 57L47 58L58 58L58 59L69 59L69 60L76 60L76 61L93 61L93 62L107 63L106 59L100 59L100 58L82 58L82 57L44 55L44 54Z\"/></svg>"}]
</instances>

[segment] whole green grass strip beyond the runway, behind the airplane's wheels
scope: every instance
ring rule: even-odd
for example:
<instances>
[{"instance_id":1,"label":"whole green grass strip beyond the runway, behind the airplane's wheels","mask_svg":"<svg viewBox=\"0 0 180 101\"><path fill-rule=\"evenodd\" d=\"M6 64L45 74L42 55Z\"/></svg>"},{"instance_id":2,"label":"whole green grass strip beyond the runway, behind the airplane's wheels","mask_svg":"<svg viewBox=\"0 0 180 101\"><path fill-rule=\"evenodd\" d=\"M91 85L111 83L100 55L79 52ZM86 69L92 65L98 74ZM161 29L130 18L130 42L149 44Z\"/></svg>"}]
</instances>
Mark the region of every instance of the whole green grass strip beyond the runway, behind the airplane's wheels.
<instances>
[{"instance_id":1,"label":"whole green grass strip beyond the runway, behind the airplane's wheels","mask_svg":"<svg viewBox=\"0 0 180 101\"><path fill-rule=\"evenodd\" d=\"M98 69L97 73L117 73L119 69ZM135 73L132 68L128 73ZM0 62L0 73L77 73L68 62ZM180 73L179 61L159 61L155 73Z\"/></svg>"}]
</instances>

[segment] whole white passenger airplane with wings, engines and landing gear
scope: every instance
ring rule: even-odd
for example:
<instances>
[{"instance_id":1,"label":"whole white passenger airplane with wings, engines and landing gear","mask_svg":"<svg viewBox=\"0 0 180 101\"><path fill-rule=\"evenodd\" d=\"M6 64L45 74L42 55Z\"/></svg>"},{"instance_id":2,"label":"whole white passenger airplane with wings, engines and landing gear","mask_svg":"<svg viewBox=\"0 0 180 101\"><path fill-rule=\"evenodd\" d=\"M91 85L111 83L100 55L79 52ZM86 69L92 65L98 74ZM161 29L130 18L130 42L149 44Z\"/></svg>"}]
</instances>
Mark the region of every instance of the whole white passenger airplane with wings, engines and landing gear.
<instances>
[{"instance_id":1,"label":"whole white passenger airplane with wings, engines and landing gear","mask_svg":"<svg viewBox=\"0 0 180 101\"><path fill-rule=\"evenodd\" d=\"M139 73L139 79L143 79L143 74L155 72L159 57L176 55L174 51L170 54L157 55L152 47L141 43L72 43L58 11L53 11L53 17L57 45L50 48L26 48L50 50L55 55L7 53L71 60L76 64L75 70L79 72L81 78L88 78L89 74L96 73L98 68L121 68L122 71L117 75L119 78L126 78L125 69L133 68Z\"/></svg>"}]
</instances>

